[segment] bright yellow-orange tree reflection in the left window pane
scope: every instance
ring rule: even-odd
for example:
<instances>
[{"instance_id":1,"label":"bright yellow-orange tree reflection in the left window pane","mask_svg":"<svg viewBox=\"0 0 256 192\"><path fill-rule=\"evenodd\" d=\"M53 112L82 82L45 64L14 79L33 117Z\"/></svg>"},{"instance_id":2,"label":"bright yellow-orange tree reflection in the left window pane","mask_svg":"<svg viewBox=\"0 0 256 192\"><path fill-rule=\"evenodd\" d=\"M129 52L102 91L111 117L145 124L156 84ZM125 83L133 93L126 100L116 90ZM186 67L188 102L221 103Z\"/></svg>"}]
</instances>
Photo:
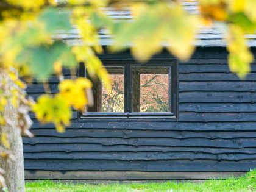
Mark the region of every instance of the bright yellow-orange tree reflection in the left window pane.
<instances>
[{"instance_id":1,"label":"bright yellow-orange tree reflection in the left window pane","mask_svg":"<svg viewBox=\"0 0 256 192\"><path fill-rule=\"evenodd\" d=\"M111 74L112 90L102 86L102 112L124 112L124 75ZM104 84L102 84L104 85Z\"/></svg>"}]
</instances>

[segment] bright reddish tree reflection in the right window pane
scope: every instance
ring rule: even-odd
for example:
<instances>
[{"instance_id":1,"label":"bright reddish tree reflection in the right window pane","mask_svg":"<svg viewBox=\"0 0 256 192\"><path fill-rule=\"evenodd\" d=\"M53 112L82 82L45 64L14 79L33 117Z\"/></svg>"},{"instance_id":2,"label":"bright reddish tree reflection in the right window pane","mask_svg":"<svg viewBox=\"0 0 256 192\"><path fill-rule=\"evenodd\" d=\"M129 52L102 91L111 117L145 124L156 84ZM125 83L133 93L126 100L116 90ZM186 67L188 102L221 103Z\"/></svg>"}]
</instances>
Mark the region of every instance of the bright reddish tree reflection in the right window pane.
<instances>
[{"instance_id":1,"label":"bright reddish tree reflection in the right window pane","mask_svg":"<svg viewBox=\"0 0 256 192\"><path fill-rule=\"evenodd\" d=\"M140 74L140 112L169 112L168 74Z\"/></svg>"}]
</instances>

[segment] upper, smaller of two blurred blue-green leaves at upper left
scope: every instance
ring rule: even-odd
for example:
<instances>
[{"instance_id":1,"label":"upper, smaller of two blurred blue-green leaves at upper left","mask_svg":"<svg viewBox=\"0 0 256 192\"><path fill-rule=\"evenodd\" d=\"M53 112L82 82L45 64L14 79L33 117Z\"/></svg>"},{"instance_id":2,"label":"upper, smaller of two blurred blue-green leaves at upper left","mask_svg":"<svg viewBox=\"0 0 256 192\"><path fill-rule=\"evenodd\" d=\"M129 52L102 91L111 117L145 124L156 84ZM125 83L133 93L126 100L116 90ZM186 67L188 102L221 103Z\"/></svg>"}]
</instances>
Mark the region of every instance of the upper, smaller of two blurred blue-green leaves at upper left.
<instances>
[{"instance_id":1,"label":"upper, smaller of two blurred blue-green leaves at upper left","mask_svg":"<svg viewBox=\"0 0 256 192\"><path fill-rule=\"evenodd\" d=\"M66 11L59 12L57 8L51 7L44 9L38 19L45 24L46 30L49 33L57 29L71 29L69 13Z\"/></svg>"}]
</instances>

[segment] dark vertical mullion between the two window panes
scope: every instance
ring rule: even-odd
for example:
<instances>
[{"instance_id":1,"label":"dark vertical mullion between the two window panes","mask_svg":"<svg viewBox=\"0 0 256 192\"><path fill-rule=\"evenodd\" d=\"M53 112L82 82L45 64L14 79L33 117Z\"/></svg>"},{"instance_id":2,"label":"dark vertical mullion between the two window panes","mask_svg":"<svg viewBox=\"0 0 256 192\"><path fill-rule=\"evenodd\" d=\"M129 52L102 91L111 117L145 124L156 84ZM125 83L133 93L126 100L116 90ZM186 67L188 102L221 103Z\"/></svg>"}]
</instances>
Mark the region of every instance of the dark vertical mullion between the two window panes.
<instances>
[{"instance_id":1,"label":"dark vertical mullion between the two window panes","mask_svg":"<svg viewBox=\"0 0 256 192\"><path fill-rule=\"evenodd\" d=\"M126 80L126 88L124 89L124 98L126 101L126 105L124 108L124 112L131 113L132 112L132 66L129 63L126 63L125 68L125 80Z\"/></svg>"}]
</instances>

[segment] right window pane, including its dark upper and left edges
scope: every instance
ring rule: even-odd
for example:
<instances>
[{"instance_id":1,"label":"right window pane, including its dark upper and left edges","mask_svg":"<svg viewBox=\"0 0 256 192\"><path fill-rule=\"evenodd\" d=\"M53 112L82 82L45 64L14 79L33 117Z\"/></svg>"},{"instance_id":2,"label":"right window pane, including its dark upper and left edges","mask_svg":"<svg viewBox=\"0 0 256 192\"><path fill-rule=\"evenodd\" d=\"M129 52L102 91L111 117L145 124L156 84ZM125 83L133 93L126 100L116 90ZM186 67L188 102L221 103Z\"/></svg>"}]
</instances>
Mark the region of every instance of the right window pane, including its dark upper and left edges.
<instances>
[{"instance_id":1,"label":"right window pane, including its dark upper and left edges","mask_svg":"<svg viewBox=\"0 0 256 192\"><path fill-rule=\"evenodd\" d=\"M169 67L132 67L132 112L170 112Z\"/></svg>"}]
</instances>

